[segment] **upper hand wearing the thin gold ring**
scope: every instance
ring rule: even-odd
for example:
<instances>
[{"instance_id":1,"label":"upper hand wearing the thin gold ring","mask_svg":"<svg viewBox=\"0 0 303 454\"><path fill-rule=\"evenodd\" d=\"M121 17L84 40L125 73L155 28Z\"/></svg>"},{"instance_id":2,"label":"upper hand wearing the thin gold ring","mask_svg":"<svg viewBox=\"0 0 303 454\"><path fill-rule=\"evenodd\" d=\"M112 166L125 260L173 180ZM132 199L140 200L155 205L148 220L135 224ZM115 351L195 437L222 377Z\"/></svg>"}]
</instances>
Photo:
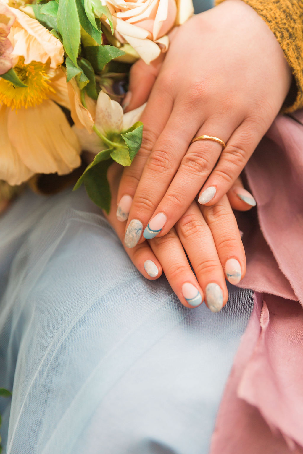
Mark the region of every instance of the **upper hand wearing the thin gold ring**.
<instances>
[{"instance_id":1,"label":"upper hand wearing the thin gold ring","mask_svg":"<svg viewBox=\"0 0 303 454\"><path fill-rule=\"evenodd\" d=\"M162 66L156 62L145 82L148 69L141 71L140 91L130 83L129 109L146 100L146 86L159 75L142 115L142 147L124 169L118 201L132 200L125 231L138 220L151 238L166 235L198 192L211 206L230 190L281 109L292 75L268 25L241 0L192 17L174 33ZM227 147L190 145L203 134ZM127 235L125 241L136 244Z\"/></svg>"}]
</instances>

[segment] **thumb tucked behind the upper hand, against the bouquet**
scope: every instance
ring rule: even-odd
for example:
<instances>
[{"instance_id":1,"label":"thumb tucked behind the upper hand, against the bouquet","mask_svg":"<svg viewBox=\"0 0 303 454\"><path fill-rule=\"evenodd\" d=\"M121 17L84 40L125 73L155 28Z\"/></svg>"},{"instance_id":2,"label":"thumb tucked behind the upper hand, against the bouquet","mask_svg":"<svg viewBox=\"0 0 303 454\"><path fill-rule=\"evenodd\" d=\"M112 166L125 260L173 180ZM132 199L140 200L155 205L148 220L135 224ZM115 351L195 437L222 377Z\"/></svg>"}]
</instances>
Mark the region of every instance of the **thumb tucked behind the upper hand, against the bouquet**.
<instances>
[{"instance_id":1,"label":"thumb tucked behind the upper hand, against the bouquet","mask_svg":"<svg viewBox=\"0 0 303 454\"><path fill-rule=\"evenodd\" d=\"M150 64L144 63L141 59L133 64L129 73L129 91L126 93L122 103L124 112L137 109L137 107L146 103L163 60L164 54L160 54Z\"/></svg>"}]
</instances>

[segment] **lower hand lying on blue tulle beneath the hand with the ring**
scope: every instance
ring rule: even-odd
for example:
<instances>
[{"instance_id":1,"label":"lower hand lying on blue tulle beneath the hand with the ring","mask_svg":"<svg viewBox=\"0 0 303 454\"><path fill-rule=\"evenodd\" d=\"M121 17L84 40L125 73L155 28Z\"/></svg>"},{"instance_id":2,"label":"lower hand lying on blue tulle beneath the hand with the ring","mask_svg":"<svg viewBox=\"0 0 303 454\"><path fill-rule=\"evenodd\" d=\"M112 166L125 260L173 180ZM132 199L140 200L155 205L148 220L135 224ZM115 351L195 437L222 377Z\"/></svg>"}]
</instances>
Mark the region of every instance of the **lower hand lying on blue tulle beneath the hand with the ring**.
<instances>
[{"instance_id":1,"label":"lower hand lying on blue tulle beneath the hand with the ring","mask_svg":"<svg viewBox=\"0 0 303 454\"><path fill-rule=\"evenodd\" d=\"M121 167L112 164L108 171L112 206L107 218L123 241L126 222L118 221L115 215L120 175ZM241 188L241 182L237 184ZM244 202L235 194L231 197L241 206ZM165 236L124 248L144 277L157 279L163 270L186 307L199 306L205 300L211 311L220 311L228 300L225 277L236 284L246 271L243 244L227 196L212 207L193 202Z\"/></svg>"}]
</instances>

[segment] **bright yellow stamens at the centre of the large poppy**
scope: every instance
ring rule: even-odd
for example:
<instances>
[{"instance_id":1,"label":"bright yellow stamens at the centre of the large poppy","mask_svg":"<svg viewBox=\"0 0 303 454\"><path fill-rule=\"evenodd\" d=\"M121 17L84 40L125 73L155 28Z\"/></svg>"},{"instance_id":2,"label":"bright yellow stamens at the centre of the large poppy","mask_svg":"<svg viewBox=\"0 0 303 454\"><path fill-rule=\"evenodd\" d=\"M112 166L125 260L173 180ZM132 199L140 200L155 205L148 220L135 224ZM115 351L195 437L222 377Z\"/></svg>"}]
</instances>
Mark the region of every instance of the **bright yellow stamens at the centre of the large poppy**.
<instances>
[{"instance_id":1,"label":"bright yellow stamens at the centre of the large poppy","mask_svg":"<svg viewBox=\"0 0 303 454\"><path fill-rule=\"evenodd\" d=\"M8 80L0 77L0 104L11 109L36 106L44 99L48 99L50 93L55 90L50 86L50 76L47 74L48 65L32 61L24 64L24 58L20 58L14 67L15 73L27 87L14 87Z\"/></svg>"}]
</instances>

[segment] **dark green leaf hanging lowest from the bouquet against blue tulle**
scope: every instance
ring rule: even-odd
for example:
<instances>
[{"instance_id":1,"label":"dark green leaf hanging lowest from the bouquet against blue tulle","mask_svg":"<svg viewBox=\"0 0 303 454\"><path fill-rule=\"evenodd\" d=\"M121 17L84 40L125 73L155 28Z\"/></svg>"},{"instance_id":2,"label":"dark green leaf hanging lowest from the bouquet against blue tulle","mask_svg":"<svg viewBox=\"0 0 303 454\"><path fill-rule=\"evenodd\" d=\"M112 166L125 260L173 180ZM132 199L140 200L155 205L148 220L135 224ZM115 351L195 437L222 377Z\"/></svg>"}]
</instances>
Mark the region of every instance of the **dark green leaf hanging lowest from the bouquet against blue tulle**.
<instances>
[{"instance_id":1,"label":"dark green leaf hanging lowest from the bouquet against blue tulle","mask_svg":"<svg viewBox=\"0 0 303 454\"><path fill-rule=\"evenodd\" d=\"M84 178L84 186L89 198L107 213L110 211L111 194L106 174L112 163L113 161L108 159L96 164Z\"/></svg>"}]
</instances>

